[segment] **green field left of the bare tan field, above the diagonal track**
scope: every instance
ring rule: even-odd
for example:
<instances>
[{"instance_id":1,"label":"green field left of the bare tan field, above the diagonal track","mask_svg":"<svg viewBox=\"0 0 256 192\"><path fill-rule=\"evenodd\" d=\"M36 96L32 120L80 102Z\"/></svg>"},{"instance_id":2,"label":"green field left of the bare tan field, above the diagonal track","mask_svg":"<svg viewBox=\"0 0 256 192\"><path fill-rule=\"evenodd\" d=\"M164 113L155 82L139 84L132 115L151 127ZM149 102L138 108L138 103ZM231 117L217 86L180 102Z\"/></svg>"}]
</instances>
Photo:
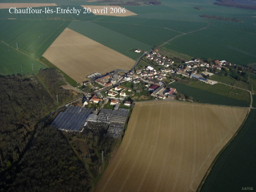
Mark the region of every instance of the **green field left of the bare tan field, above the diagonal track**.
<instances>
[{"instance_id":1,"label":"green field left of the bare tan field, above the diagonal track","mask_svg":"<svg viewBox=\"0 0 256 192\"><path fill-rule=\"evenodd\" d=\"M68 26L62 20L0 20L2 41L39 59L52 42Z\"/></svg>"}]
</instances>

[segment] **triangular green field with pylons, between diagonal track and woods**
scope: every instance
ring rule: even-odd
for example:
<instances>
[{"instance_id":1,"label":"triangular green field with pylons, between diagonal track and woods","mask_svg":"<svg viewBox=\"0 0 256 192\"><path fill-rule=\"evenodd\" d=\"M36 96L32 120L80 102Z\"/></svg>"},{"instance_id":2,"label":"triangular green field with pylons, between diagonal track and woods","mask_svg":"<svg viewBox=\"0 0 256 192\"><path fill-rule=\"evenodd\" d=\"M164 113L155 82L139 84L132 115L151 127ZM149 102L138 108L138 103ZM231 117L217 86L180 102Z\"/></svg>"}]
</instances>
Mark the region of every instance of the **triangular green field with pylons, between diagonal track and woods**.
<instances>
[{"instance_id":1,"label":"triangular green field with pylons, between diagonal track and woods","mask_svg":"<svg viewBox=\"0 0 256 192\"><path fill-rule=\"evenodd\" d=\"M12 74L32 74L37 73L40 68L46 68L42 63L33 59L15 49L10 49L9 46L3 42L0 44L0 74L12 75ZM33 62L33 70L32 63ZM22 67L21 67L22 66Z\"/></svg>"}]
</instances>

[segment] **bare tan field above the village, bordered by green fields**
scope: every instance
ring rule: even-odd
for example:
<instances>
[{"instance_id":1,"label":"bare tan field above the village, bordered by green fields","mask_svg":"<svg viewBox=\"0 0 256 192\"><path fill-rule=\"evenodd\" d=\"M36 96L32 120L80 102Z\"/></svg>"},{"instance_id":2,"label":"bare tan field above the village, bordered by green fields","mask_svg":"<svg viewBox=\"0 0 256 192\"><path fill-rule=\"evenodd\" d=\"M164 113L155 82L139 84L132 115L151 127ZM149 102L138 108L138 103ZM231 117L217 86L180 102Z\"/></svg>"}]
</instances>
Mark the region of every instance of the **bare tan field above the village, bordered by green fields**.
<instances>
[{"instance_id":1,"label":"bare tan field above the village, bordered by green fields","mask_svg":"<svg viewBox=\"0 0 256 192\"><path fill-rule=\"evenodd\" d=\"M88 37L66 28L43 56L78 83L98 72L129 70L135 61Z\"/></svg>"}]
</instances>

